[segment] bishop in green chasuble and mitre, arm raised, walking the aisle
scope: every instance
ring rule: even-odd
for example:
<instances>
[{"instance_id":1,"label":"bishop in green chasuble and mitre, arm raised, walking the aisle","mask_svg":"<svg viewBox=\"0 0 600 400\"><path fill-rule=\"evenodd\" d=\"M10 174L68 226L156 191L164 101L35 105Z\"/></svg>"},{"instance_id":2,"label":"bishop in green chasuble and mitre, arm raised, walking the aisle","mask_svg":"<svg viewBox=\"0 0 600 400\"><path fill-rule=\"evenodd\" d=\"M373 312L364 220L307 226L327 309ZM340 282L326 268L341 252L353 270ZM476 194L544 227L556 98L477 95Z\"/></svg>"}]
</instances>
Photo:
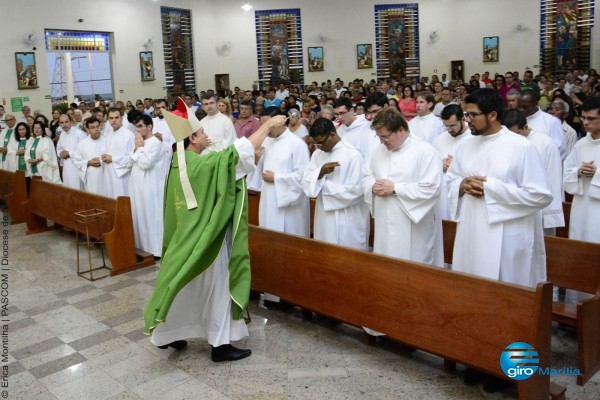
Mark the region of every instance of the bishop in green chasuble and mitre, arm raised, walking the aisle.
<instances>
[{"instance_id":1,"label":"bishop in green chasuble and mitre, arm raised, walking the aisle","mask_svg":"<svg viewBox=\"0 0 600 400\"><path fill-rule=\"evenodd\" d=\"M237 139L220 152L199 154L210 139L194 113L179 99L163 115L177 140L165 187L163 257L154 292L144 311L145 332L160 348L183 349L186 339L203 338L213 361L251 354L230 342L248 336L243 311L250 293L247 190L254 153L269 129Z\"/></svg>"}]
</instances>

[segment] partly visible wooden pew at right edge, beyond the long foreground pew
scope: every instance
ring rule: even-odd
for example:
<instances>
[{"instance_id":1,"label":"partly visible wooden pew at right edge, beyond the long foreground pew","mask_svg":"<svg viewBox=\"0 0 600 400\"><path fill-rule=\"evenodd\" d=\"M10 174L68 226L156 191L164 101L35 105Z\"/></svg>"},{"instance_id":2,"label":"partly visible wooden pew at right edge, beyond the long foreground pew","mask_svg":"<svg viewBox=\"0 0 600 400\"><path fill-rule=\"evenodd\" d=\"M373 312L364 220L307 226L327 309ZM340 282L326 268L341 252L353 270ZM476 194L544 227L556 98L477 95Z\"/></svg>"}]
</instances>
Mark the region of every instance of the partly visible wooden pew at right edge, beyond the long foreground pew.
<instances>
[{"instance_id":1,"label":"partly visible wooden pew at right edge, beyond the long foreground pew","mask_svg":"<svg viewBox=\"0 0 600 400\"><path fill-rule=\"evenodd\" d=\"M579 371L584 385L600 369L600 244L545 237L548 281L594 295L577 304L556 301L552 319L577 328Z\"/></svg>"}]
</instances>

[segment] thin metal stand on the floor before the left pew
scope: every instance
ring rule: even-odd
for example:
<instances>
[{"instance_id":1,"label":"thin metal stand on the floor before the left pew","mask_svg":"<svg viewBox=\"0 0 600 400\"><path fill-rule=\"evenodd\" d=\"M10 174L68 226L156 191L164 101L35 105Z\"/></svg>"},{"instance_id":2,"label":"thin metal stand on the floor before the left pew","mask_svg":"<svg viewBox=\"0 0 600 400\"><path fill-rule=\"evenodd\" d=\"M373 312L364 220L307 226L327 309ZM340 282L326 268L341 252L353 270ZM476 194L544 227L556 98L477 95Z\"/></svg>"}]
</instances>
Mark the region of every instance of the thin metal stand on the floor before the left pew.
<instances>
[{"instance_id":1,"label":"thin metal stand on the floor before the left pew","mask_svg":"<svg viewBox=\"0 0 600 400\"><path fill-rule=\"evenodd\" d=\"M111 267L106 265L106 259L104 258L104 241L101 239L94 239L90 237L90 231L98 233L99 237L102 237L102 233L110 230L108 212L100 209L92 209L85 211L78 211L75 213L75 246L77 248L77 275L87 279L88 281L95 281L98 279L106 278L110 276ZM85 237L80 238L79 232L85 232ZM82 271L79 262L79 247L86 246L88 255L88 269ZM102 257L102 265L94 267L92 263L92 248L98 246L100 255ZM100 276L94 276L95 271L106 270L101 273ZM108 273L106 273L108 272Z\"/></svg>"}]
</instances>

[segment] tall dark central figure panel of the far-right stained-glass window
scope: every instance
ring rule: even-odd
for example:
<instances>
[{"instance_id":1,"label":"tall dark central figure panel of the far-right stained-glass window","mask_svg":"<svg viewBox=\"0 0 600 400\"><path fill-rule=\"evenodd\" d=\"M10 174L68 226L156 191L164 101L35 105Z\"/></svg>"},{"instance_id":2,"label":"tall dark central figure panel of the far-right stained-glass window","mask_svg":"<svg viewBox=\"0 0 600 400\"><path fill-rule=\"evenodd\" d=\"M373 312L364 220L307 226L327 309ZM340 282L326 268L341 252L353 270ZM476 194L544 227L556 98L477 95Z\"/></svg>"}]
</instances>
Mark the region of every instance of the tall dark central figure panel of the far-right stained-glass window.
<instances>
[{"instance_id":1,"label":"tall dark central figure panel of the far-right stained-glass window","mask_svg":"<svg viewBox=\"0 0 600 400\"><path fill-rule=\"evenodd\" d=\"M556 2L556 67L573 68L577 60L577 0Z\"/></svg>"}]
</instances>

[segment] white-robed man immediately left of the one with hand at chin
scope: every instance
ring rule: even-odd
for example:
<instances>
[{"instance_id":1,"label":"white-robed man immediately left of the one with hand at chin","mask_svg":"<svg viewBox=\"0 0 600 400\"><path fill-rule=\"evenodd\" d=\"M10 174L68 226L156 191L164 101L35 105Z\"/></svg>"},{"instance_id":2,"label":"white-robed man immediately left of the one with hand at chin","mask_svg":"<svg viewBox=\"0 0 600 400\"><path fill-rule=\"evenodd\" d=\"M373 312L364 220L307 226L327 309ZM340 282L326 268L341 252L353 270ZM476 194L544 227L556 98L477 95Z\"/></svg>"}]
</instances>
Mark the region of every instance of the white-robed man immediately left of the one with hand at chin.
<instances>
[{"instance_id":1,"label":"white-robed man immediately left of the one with hand at chin","mask_svg":"<svg viewBox=\"0 0 600 400\"><path fill-rule=\"evenodd\" d=\"M123 114L117 108L108 109L112 132L106 134L105 153L101 155L106 179L106 195L117 198L129 195L129 156L133 153L133 132L123 126ZM61 135L62 136L62 135Z\"/></svg>"}]
</instances>

